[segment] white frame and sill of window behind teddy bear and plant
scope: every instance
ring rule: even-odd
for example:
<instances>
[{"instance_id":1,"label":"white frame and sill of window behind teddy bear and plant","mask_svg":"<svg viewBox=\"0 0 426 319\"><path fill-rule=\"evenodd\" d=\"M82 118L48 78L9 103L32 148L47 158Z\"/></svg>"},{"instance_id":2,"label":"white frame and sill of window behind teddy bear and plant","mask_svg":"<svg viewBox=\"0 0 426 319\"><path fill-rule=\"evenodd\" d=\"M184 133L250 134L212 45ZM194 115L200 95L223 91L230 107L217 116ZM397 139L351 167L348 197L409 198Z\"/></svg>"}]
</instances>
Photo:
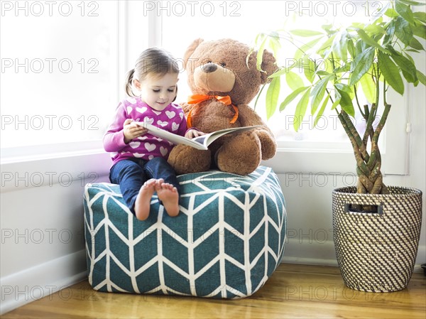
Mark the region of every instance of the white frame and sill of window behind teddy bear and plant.
<instances>
[{"instance_id":1,"label":"white frame and sill of window behind teddy bear and plant","mask_svg":"<svg viewBox=\"0 0 426 319\"><path fill-rule=\"evenodd\" d=\"M150 44L162 46L163 16L155 11L149 11L148 14L151 18L149 26L155 28L157 35L150 37ZM189 41L186 42L189 43ZM382 173L385 175L408 175L410 173L408 168L409 134L403 134L405 127L410 123L408 117L412 107L410 90L411 87L406 85L404 97L395 92L389 94L388 101L393 101L393 104L398 107L393 108L381 134ZM399 107L401 105L405 107ZM338 125L340 125L339 122ZM398 129L387 130L386 127ZM310 145L310 147L303 147L298 141L278 141L278 149L274 158L262 163L271 166L276 173L326 173L356 176L356 162L349 139L347 139L346 145L342 146L342 144L344 143L331 141L308 142L305 145ZM396 145L396 147L386 148L386 145ZM401 152L405 153L405 156L401 157Z\"/></svg>"}]
</instances>

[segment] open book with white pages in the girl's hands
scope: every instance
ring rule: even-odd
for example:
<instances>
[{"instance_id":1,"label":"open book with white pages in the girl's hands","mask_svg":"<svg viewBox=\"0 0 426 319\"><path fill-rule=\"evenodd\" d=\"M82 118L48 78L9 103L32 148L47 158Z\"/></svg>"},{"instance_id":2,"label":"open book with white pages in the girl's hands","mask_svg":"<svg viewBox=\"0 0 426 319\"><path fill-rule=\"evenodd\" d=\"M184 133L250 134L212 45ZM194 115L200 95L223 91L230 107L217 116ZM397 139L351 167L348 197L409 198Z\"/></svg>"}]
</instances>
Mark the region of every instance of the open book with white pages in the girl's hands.
<instances>
[{"instance_id":1,"label":"open book with white pages in the girl's hands","mask_svg":"<svg viewBox=\"0 0 426 319\"><path fill-rule=\"evenodd\" d=\"M180 136L177 134L170 133L169 131L165 131L164 129L160 129L157 126L153 126L152 124L148 124L146 122L138 122L133 121L133 123L136 123L138 125L141 125L148 129L148 132L150 134L153 134L153 136L157 136L160 139L165 139L167 141L170 141L173 144L185 144L187 146L192 146L194 148L200 149L200 150L207 150L208 146L212 144L214 141L219 139L219 137L224 136L229 133L234 133L236 131L249 131L250 129L254 129L258 126L244 126L244 127L236 127L234 129L221 129L219 131L214 131L212 133L208 133L202 136L197 136L194 139L187 139L185 136Z\"/></svg>"}]
</instances>

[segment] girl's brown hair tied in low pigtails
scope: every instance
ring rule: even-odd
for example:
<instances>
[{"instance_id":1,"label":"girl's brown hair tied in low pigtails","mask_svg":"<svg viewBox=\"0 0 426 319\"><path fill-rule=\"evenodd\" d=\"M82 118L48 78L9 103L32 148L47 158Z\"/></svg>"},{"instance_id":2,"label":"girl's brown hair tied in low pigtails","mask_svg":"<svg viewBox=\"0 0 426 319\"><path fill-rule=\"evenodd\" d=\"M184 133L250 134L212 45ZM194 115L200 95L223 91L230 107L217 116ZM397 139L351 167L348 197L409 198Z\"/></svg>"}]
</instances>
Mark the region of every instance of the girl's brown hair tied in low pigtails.
<instances>
[{"instance_id":1,"label":"girl's brown hair tied in low pigtails","mask_svg":"<svg viewBox=\"0 0 426 319\"><path fill-rule=\"evenodd\" d=\"M160 48L149 48L143 51L136 60L135 68L127 72L125 90L130 97L133 94L133 79L143 81L146 76L163 77L167 73L179 73L179 66L173 55Z\"/></svg>"}]
</instances>

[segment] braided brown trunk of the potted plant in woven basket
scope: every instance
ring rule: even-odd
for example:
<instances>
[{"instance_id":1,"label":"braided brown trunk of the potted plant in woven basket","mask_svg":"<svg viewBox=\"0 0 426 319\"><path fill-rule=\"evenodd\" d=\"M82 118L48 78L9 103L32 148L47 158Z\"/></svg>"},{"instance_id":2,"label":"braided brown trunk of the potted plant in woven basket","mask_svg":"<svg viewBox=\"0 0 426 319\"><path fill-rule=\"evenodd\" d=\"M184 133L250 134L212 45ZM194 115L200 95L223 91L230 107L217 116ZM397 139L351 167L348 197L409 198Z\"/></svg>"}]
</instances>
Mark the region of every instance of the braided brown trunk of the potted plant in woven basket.
<instances>
[{"instance_id":1,"label":"braided brown trunk of the potted plant in woven basket","mask_svg":"<svg viewBox=\"0 0 426 319\"><path fill-rule=\"evenodd\" d=\"M383 184L383 175L381 173L381 154L378 149L378 137L381 134L383 126L388 118L391 104L385 103L383 115L378 122L376 129L373 128L373 121L377 113L377 105L372 104L371 109L364 106L362 116L366 121L366 131L364 136L360 136L356 127L352 123L349 115L342 110L339 112L339 120L349 136L354 155L356 158L356 173L358 175L358 184L356 193L362 194L388 194L388 188ZM371 148L368 150L368 141ZM369 207L358 207L361 210L369 210Z\"/></svg>"}]
</instances>

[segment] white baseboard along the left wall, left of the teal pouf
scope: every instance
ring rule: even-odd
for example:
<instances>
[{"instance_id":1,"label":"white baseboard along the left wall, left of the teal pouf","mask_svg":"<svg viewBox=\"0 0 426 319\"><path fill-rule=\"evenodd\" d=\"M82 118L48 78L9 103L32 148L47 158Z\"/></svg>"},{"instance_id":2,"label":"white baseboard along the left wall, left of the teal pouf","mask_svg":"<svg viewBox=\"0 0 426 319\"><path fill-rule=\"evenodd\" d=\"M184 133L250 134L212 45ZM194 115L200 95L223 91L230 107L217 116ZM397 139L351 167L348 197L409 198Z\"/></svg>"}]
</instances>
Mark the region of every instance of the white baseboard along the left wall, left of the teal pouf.
<instances>
[{"instance_id":1,"label":"white baseboard along the left wall, left of the teal pouf","mask_svg":"<svg viewBox=\"0 0 426 319\"><path fill-rule=\"evenodd\" d=\"M87 278L84 249L0 279L0 315Z\"/></svg>"}]
</instances>

